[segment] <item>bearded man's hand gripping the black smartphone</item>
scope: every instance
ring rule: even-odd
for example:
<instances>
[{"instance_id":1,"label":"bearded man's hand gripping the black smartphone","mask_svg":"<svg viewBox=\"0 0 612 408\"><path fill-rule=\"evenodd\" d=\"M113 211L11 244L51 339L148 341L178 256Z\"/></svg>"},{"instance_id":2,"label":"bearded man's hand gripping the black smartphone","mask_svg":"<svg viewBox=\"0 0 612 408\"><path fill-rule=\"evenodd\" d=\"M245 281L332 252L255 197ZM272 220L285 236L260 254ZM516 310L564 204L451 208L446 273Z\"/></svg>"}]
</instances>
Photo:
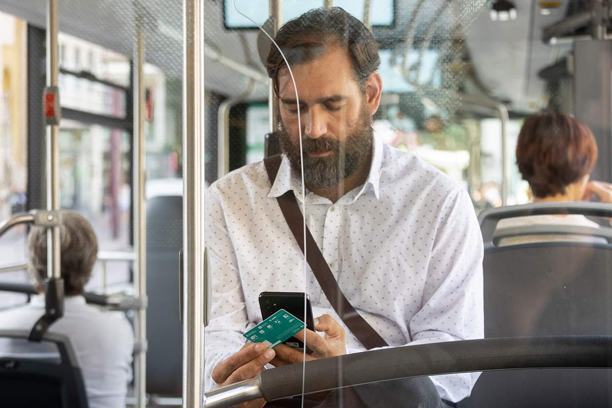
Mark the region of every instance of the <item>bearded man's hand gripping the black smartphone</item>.
<instances>
[{"instance_id":1,"label":"bearded man's hand gripping the black smartphone","mask_svg":"<svg viewBox=\"0 0 612 408\"><path fill-rule=\"evenodd\" d=\"M306 354L306 361L346 354L345 329L332 316L324 314L316 318L315 330L324 332L325 337L321 337L307 328L294 335L296 339L303 341L313 351L313 354ZM304 352L292 349L285 344L279 344L274 350L276 352L276 357L272 360L274 366L278 367L304 361Z\"/></svg>"}]
</instances>

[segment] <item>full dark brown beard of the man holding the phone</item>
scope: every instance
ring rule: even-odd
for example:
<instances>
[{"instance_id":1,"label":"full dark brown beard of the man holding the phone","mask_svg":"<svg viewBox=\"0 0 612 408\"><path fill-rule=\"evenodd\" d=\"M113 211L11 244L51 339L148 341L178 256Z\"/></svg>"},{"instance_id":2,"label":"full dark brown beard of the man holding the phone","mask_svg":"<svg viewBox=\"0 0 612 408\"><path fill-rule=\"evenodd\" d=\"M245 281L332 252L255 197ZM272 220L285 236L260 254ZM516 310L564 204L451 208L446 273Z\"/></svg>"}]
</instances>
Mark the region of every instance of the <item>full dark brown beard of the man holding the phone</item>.
<instances>
[{"instance_id":1,"label":"full dark brown beard of the man holding the phone","mask_svg":"<svg viewBox=\"0 0 612 408\"><path fill-rule=\"evenodd\" d=\"M364 104L365 105L365 104ZM367 105L362 106L359 121L349 129L346 141L340 142L329 136L302 138L304 150L304 181L316 188L331 188L352 176L359 165L367 160L373 144L371 116ZM299 143L293 144L284 126L280 130L280 144L289 158L291 168L302 174ZM312 157L309 153L332 152L324 157Z\"/></svg>"}]
</instances>

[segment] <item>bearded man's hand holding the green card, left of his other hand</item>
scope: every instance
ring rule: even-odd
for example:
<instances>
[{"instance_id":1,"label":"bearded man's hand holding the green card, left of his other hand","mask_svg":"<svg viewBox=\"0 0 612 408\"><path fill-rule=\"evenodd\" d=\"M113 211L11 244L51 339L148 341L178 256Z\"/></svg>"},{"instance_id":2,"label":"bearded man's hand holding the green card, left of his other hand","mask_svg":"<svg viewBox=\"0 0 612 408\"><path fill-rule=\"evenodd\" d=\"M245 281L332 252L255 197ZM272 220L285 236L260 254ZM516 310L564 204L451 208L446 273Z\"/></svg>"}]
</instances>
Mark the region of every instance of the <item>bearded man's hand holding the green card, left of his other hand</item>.
<instances>
[{"instance_id":1,"label":"bearded man's hand holding the green card, left of his other hand","mask_svg":"<svg viewBox=\"0 0 612 408\"><path fill-rule=\"evenodd\" d=\"M218 363L212 370L212 379L219 387L234 384L250 378L255 378L263 371L264 366L272 361L275 353L272 349L266 349L261 343L247 343L239 352L230 355ZM255 401L244 402L238 405L240 408L261 408L266 405L263 398Z\"/></svg>"}]
</instances>

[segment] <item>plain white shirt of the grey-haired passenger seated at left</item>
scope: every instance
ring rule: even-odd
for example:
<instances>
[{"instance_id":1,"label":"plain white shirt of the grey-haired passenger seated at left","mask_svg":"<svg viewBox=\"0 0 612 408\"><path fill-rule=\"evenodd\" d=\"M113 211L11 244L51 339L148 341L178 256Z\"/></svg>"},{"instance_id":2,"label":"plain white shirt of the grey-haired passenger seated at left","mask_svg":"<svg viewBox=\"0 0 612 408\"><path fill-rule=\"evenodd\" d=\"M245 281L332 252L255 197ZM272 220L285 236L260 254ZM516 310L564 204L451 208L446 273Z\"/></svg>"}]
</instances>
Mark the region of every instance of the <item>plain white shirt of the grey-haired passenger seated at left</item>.
<instances>
[{"instance_id":1,"label":"plain white shirt of the grey-haired passenger seated at left","mask_svg":"<svg viewBox=\"0 0 612 408\"><path fill-rule=\"evenodd\" d=\"M29 331L44 313L45 297L36 295L27 305L0 312L0 330ZM50 326L49 332L72 340L81 363L89 408L125 406L127 385L132 380L134 335L123 313L87 305L80 295L69 296L64 300L64 316ZM0 355L28 352L30 346L34 353L42 350L38 343L0 339Z\"/></svg>"}]
</instances>

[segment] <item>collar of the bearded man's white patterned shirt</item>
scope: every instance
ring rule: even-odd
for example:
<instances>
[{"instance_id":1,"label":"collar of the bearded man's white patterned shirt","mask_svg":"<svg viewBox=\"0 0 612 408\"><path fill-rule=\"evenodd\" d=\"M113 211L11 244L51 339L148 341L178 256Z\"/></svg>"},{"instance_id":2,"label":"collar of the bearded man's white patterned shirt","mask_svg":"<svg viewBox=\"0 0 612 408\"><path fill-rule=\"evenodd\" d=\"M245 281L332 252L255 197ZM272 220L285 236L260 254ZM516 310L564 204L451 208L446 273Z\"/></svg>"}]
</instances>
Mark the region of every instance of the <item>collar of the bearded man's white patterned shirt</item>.
<instances>
[{"instance_id":1,"label":"collar of the bearded man's white patterned shirt","mask_svg":"<svg viewBox=\"0 0 612 408\"><path fill-rule=\"evenodd\" d=\"M371 185L374 195L376 199L379 199L379 184L381 177L381 166L383 165L383 141L376 136L374 136L374 143L372 146L373 154L372 154L372 162L370 165L370 172L368 173L368 178L365 180L365 184L360 189L359 193L355 196L354 199L357 199L362 193L365 191L368 185ZM296 195L298 201L301 201L302 197L302 180L301 178L295 174L295 172L291 169L291 163L289 163L289 158L283 154L283 160L280 163L280 167L278 168L278 173L276 175L276 179L274 180L274 184L272 184L272 188L268 193L268 198L278 198L285 194L287 191L293 190L293 193ZM307 192L307 201L311 201L309 196L313 196L314 201L316 200L316 195ZM321 204L319 202L308 202L308 204Z\"/></svg>"}]
</instances>

